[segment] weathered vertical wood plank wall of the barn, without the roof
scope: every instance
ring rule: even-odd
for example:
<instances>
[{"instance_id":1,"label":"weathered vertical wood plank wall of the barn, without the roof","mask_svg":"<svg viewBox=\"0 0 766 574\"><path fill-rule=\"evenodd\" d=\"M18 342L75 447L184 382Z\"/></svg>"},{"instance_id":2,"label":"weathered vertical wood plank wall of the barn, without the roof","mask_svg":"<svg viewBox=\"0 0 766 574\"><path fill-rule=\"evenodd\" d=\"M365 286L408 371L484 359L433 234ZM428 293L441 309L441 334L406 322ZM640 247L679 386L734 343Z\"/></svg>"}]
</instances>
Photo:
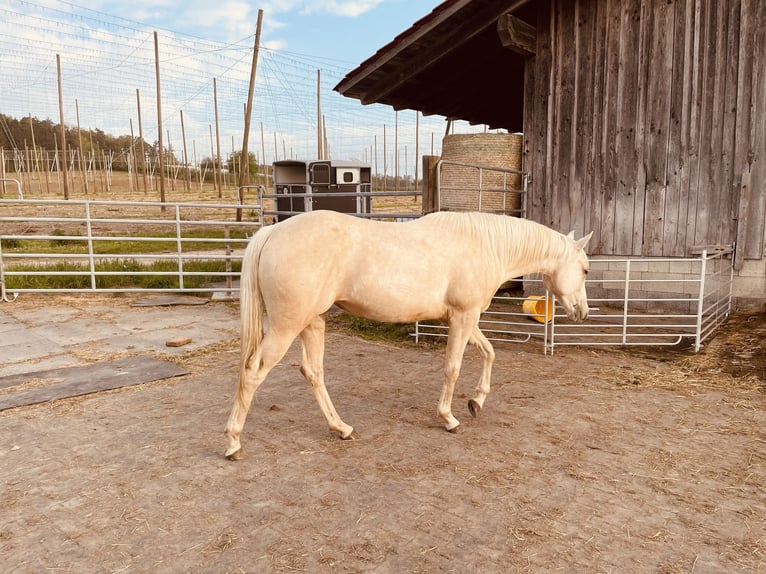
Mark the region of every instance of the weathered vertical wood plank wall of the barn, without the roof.
<instances>
[{"instance_id":1,"label":"weathered vertical wood plank wall of the barn, without the roof","mask_svg":"<svg viewBox=\"0 0 766 574\"><path fill-rule=\"evenodd\" d=\"M541 2L525 90L531 218L594 253L763 258L766 2Z\"/></svg>"}]
</instances>

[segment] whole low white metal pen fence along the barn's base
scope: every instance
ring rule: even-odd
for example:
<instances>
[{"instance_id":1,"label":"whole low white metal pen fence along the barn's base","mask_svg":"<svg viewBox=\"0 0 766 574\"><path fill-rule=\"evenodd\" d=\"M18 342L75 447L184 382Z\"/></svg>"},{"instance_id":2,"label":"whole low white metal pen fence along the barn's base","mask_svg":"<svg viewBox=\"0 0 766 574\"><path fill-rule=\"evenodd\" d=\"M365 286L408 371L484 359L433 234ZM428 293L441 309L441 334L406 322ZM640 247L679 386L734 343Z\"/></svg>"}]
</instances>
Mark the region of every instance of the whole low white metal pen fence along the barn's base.
<instances>
[{"instance_id":1,"label":"whole low white metal pen fence along the barn's base","mask_svg":"<svg viewBox=\"0 0 766 574\"><path fill-rule=\"evenodd\" d=\"M479 326L497 342L540 340L545 353L556 346L675 346L688 342L694 352L732 309L732 247L703 250L693 258L593 258L586 282L588 320L571 323L556 305L550 321L524 310L524 296L495 297ZM539 279L525 278L526 293L554 300ZM549 299L550 298L550 299ZM447 327L415 325L413 336L446 337Z\"/></svg>"}]
</instances>

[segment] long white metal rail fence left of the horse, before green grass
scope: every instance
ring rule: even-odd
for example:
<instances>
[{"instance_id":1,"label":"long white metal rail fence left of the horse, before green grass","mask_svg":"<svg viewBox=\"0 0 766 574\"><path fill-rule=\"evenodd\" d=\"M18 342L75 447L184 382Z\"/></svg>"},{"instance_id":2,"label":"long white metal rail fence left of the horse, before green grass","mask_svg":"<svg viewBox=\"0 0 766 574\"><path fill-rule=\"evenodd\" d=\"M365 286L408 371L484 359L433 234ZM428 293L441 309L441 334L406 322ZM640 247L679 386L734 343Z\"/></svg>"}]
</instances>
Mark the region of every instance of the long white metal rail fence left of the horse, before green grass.
<instances>
[{"instance_id":1,"label":"long white metal rail fence left of the horse, before green grass","mask_svg":"<svg viewBox=\"0 0 766 574\"><path fill-rule=\"evenodd\" d=\"M259 213L257 204L0 200L0 295L231 294ZM41 286L41 276L58 283ZM129 286L122 277L152 277L159 286Z\"/></svg>"}]
</instances>

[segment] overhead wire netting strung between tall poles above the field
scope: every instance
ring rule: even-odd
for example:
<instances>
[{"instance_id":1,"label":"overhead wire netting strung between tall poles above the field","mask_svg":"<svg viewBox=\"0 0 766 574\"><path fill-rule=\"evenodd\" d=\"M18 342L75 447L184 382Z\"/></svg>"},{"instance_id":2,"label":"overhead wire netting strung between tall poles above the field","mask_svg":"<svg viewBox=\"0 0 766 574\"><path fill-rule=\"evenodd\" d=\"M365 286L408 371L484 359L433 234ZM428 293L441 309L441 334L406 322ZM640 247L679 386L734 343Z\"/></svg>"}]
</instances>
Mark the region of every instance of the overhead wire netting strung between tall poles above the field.
<instances>
[{"instance_id":1,"label":"overhead wire netting strung between tall poles above the field","mask_svg":"<svg viewBox=\"0 0 766 574\"><path fill-rule=\"evenodd\" d=\"M47 4L9 0L0 6L0 113L15 118L50 118L58 123L58 54L65 124L77 125L79 112L83 129L130 135L132 127L138 137L138 95L144 139L156 142L156 32L164 146L181 147L183 112L189 148L194 145L198 159L211 155L215 79L222 156L241 148L255 22L251 36L223 43L151 29L62 0ZM334 92L332 88L352 67L321 56L261 46L250 150L264 163L316 157L320 70L330 156L375 164L374 150L377 172L382 173L386 126L386 171L393 173L397 161L393 154L394 126L398 122L399 173L411 173L417 157L415 112L401 111L397 117L388 106L362 106ZM419 154L439 153L444 127L444 118L420 119ZM475 132L483 128L462 125L456 129ZM14 144L24 146L24 142Z\"/></svg>"}]
</instances>

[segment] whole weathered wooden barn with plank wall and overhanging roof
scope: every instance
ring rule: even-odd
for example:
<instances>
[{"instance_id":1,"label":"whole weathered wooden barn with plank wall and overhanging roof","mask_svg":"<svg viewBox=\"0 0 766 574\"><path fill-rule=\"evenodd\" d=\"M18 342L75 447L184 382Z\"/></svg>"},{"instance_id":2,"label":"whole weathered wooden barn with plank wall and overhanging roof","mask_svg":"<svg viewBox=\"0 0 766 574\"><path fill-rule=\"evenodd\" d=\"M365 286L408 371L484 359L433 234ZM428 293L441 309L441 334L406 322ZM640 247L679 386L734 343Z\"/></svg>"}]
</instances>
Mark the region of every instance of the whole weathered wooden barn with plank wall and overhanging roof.
<instances>
[{"instance_id":1,"label":"whole weathered wooden barn with plank wall and overhanging roof","mask_svg":"<svg viewBox=\"0 0 766 574\"><path fill-rule=\"evenodd\" d=\"M596 255L736 244L766 299L762 0L447 0L335 89L522 132L529 218Z\"/></svg>"}]
</instances>

